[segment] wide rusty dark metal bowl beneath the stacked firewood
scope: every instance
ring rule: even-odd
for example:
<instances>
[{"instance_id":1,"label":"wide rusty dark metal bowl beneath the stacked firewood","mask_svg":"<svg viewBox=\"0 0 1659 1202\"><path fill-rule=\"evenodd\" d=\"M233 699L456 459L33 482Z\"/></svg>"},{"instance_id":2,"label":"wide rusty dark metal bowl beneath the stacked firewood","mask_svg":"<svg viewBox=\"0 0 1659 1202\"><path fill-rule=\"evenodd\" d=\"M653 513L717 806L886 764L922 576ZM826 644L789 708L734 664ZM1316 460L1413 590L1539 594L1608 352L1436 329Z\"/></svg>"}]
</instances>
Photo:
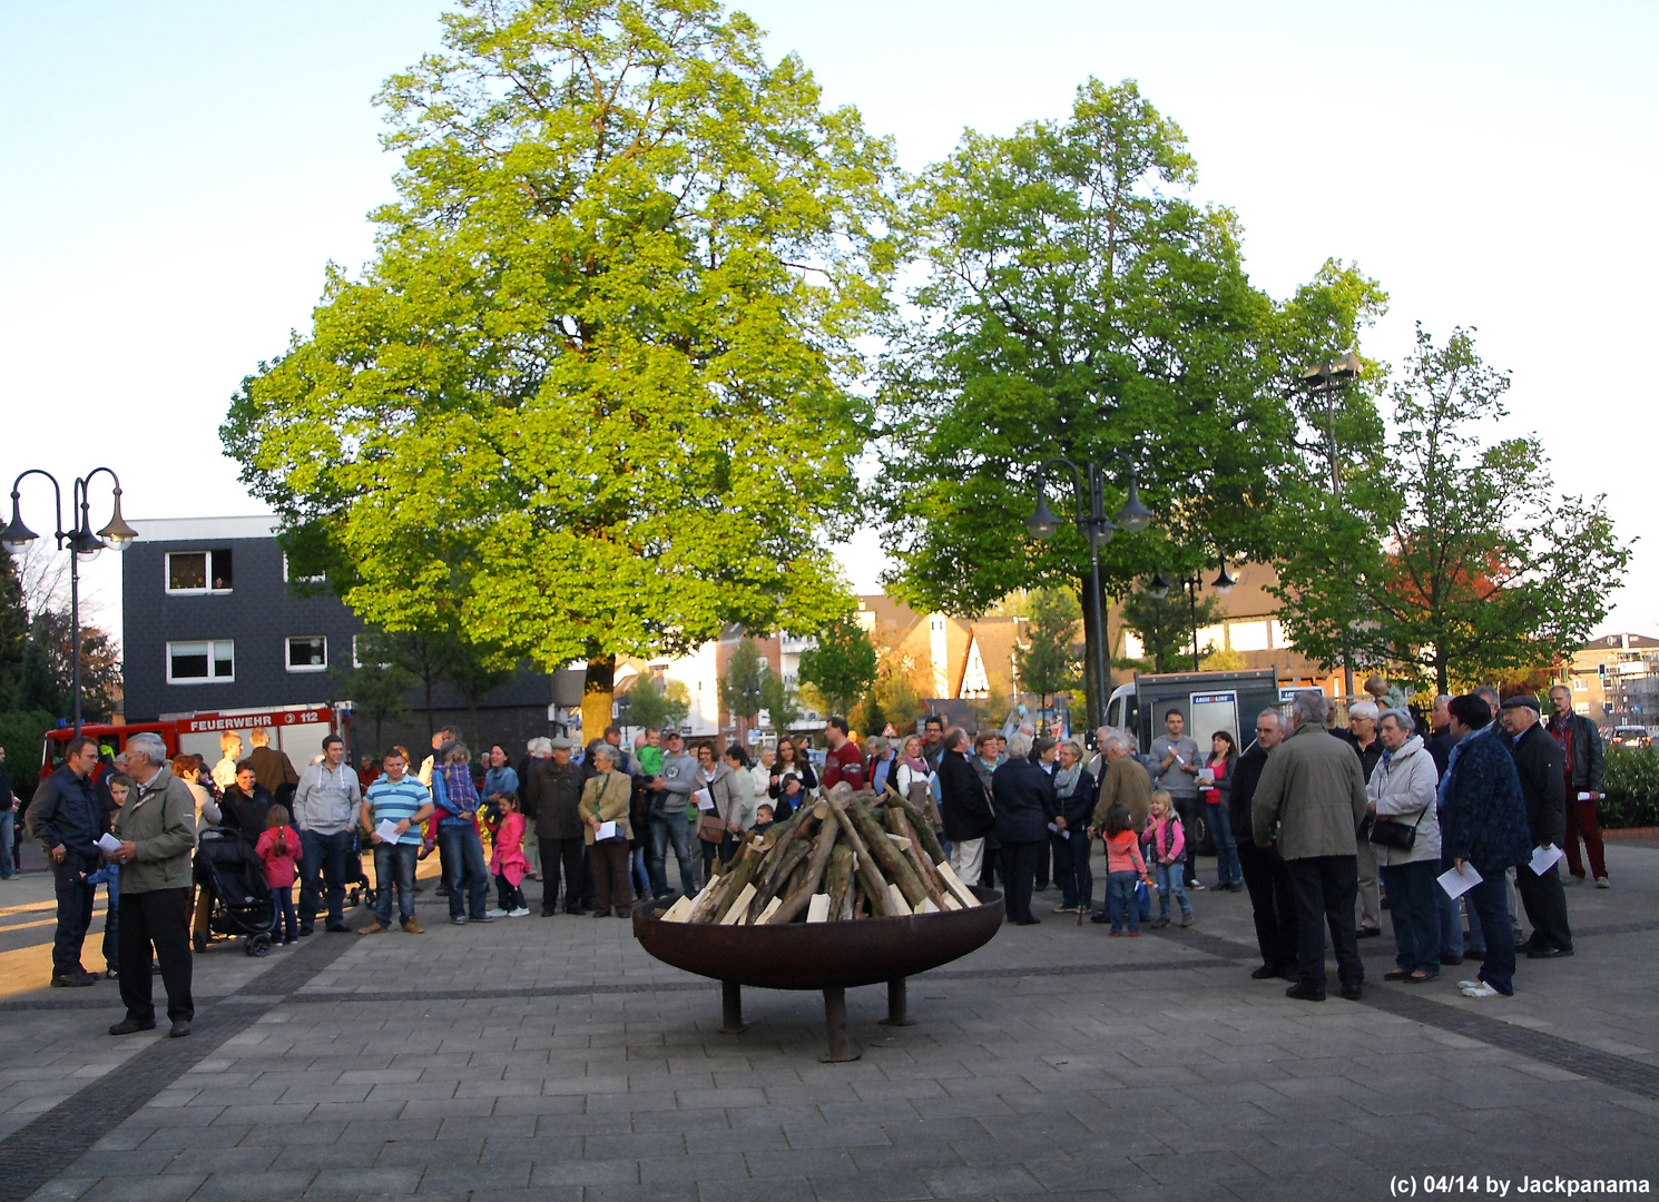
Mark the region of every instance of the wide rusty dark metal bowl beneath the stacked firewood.
<instances>
[{"instance_id":1,"label":"wide rusty dark metal bowl beneath the stacked firewood","mask_svg":"<svg viewBox=\"0 0 1659 1202\"><path fill-rule=\"evenodd\" d=\"M662 922L669 902L634 909L634 938L664 963L761 990L834 990L902 980L959 960L1002 925L1002 894L974 887L982 905L898 918L715 927Z\"/></svg>"}]
</instances>

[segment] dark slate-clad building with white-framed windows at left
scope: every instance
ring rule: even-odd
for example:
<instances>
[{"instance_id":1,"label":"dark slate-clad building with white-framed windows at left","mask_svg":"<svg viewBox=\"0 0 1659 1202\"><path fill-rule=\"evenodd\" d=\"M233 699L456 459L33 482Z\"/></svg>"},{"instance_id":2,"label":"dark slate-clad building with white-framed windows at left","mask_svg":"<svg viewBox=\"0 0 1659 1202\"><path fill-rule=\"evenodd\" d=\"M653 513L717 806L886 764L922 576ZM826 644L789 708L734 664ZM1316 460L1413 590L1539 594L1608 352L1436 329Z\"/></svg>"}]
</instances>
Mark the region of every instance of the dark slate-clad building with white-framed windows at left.
<instances>
[{"instance_id":1,"label":"dark slate-clad building with white-framed windows at left","mask_svg":"<svg viewBox=\"0 0 1659 1202\"><path fill-rule=\"evenodd\" d=\"M202 710L247 710L345 701L330 668L350 668L363 622L338 599L290 587L272 517L133 521L138 539L123 552L121 618L128 721ZM559 693L569 691L557 673ZM581 673L574 673L581 680ZM478 731L463 698L433 693L433 721L468 738L524 741L552 729L556 676L521 671L483 700ZM576 703L581 703L579 683ZM425 746L425 696L415 715L387 723L387 743ZM363 739L372 731L358 728Z\"/></svg>"}]
</instances>

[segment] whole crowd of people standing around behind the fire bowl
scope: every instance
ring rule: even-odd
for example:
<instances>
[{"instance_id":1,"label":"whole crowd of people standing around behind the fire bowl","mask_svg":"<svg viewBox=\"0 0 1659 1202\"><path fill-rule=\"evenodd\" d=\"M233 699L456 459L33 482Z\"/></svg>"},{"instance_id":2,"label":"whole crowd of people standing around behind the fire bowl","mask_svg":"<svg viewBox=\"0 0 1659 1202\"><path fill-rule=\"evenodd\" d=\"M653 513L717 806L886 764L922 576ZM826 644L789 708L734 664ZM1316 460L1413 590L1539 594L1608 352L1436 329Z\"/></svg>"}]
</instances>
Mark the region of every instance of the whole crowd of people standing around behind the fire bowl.
<instances>
[{"instance_id":1,"label":"whole crowd of people standing around behind the fire bowl","mask_svg":"<svg viewBox=\"0 0 1659 1202\"><path fill-rule=\"evenodd\" d=\"M98 980L81 965L81 945L103 885L105 977L121 981L128 1006L111 1031L156 1025L151 975L159 973L173 1035L189 1033L189 942L206 947L212 905L191 872L199 826L252 849L275 905L272 938L290 945L314 933L319 914L324 930L352 930L353 887L373 899L358 933L392 930L393 904L397 927L423 933L416 865L431 854L455 925L529 917L526 880L541 884L542 917L562 909L629 918L637 897L674 892L670 849L679 890L695 894L747 832L846 786L912 802L959 877L1002 889L1014 925L1040 922L1034 895L1050 882L1060 892L1055 914L1090 915L1130 938L1141 923L1193 925L1191 894L1248 890L1262 960L1251 977L1284 978L1287 996L1321 1001L1327 932L1340 993L1357 1000L1357 945L1380 935L1387 909L1395 968L1384 980L1422 985L1443 967L1478 962L1462 991L1508 996L1520 952L1573 955L1556 849L1569 882L1586 880L1588 860L1594 884L1611 885L1594 811L1599 733L1573 713L1564 688L1550 695L1548 723L1535 696L1500 700L1490 688L1437 698L1420 723L1377 683L1369 685L1375 701L1349 708L1347 728L1334 725L1316 690L1297 693L1289 716L1264 710L1243 753L1231 731L1211 733L1201 753L1180 710L1163 715L1163 734L1145 754L1110 726L1092 754L1029 728L946 729L937 716L921 733L859 744L831 718L821 771L791 738L752 759L737 743L688 746L675 729L644 729L624 746L614 726L581 748L531 739L516 763L499 743L474 763L458 733L441 729L418 768L393 746L353 769L330 734L304 771L262 729L251 733L247 756L241 738L226 734L211 769L199 756L169 759L158 736L133 736L101 774L96 741L75 738L28 811L56 880L51 985ZM146 804L151 797L159 804ZM1208 885L1196 872L1199 812L1216 854ZM1463 882L1462 897L1442 887L1443 875ZM1525 942L1521 914L1531 925Z\"/></svg>"}]
</instances>

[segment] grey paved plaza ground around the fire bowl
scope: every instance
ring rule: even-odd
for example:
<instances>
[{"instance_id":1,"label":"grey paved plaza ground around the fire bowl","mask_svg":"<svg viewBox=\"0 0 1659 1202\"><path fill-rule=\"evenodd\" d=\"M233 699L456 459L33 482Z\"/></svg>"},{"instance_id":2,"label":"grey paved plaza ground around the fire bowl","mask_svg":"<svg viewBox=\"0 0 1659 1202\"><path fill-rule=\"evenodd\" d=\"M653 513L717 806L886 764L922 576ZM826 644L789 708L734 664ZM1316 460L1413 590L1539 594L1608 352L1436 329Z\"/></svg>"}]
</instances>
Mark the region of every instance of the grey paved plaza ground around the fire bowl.
<instances>
[{"instance_id":1,"label":"grey paved plaza ground around the fire bowl","mask_svg":"<svg viewBox=\"0 0 1659 1202\"><path fill-rule=\"evenodd\" d=\"M7 950L0 1199L1646 1192L1659 847L1613 844L1609 865L1614 889L1568 890L1576 957L1523 958L1516 996L1481 1001L1452 968L1384 985L1387 937L1362 943L1360 1003L1287 1001L1248 978L1244 895L1198 894L1194 928L1130 940L1039 894L1040 927L912 978L914 1026L879 1026L883 990L851 990L848 1064L818 1059L818 995L748 990L748 1030L722 1035L718 985L649 958L625 922L456 928L430 890L425 935L319 928L267 960L216 945L187 1040L109 1038L113 981L20 991ZM7 914L41 899L45 874L0 895ZM5 948L50 935L0 928Z\"/></svg>"}]
</instances>

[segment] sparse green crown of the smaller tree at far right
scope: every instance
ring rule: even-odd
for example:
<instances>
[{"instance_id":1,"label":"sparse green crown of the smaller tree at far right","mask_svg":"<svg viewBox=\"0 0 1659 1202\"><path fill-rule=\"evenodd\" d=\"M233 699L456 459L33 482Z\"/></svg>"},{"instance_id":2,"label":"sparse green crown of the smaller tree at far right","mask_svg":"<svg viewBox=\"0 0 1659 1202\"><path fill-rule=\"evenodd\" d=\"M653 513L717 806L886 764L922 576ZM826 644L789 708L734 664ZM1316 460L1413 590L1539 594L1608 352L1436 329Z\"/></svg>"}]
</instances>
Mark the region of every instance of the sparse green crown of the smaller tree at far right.
<instances>
[{"instance_id":1,"label":"sparse green crown of the smaller tree at far right","mask_svg":"<svg viewBox=\"0 0 1659 1202\"><path fill-rule=\"evenodd\" d=\"M1279 597L1292 645L1448 691L1566 657L1608 613L1629 545L1604 497L1559 496L1536 436L1493 443L1510 380L1458 328L1418 327L1385 448L1340 502L1287 507Z\"/></svg>"}]
</instances>

